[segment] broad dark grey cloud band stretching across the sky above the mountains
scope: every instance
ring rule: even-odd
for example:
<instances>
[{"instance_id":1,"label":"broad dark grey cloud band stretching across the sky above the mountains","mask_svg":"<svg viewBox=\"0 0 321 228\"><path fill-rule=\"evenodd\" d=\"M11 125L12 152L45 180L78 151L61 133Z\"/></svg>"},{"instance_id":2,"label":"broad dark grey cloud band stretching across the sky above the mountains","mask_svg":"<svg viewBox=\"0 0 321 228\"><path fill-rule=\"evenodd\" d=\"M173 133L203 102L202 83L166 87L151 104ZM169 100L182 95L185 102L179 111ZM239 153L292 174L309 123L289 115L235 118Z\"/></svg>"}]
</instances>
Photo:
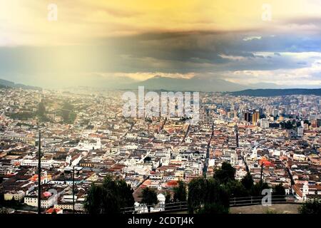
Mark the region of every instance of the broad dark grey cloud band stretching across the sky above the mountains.
<instances>
[{"instance_id":1,"label":"broad dark grey cloud band stretching across the sky above the mountains","mask_svg":"<svg viewBox=\"0 0 321 228\"><path fill-rule=\"evenodd\" d=\"M260 38L246 39L257 36ZM0 48L0 72L209 72L300 68L282 52L321 51L321 36L255 31L145 33L95 45ZM270 56L258 54L269 52ZM235 57L236 56L236 57ZM243 58L240 58L243 57Z\"/></svg>"}]
</instances>

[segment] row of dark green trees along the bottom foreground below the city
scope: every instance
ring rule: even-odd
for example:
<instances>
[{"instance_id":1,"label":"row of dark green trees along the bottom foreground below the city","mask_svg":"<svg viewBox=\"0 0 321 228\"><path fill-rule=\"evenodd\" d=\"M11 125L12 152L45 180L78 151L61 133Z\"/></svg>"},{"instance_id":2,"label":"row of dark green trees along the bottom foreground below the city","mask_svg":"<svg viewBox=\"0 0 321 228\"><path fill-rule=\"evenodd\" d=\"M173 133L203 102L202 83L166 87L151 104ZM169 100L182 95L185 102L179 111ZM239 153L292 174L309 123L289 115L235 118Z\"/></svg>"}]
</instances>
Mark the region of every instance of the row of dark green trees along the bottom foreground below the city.
<instances>
[{"instance_id":1,"label":"row of dark green trees along the bottom foreground below the city","mask_svg":"<svg viewBox=\"0 0 321 228\"><path fill-rule=\"evenodd\" d=\"M240 181L235 180L235 168L223 162L222 167L215 170L215 175L211 178L199 177L191 180L188 185L179 181L178 187L173 188L173 195L170 192L165 193L165 203L187 202L189 213L226 214L229 213L230 198L262 196L262 190L268 188L265 182L255 184L250 173ZM273 195L285 195L282 185L273 189ZM158 203L156 192L148 187L143 189L141 197L141 202L147 205L148 212ZM133 204L131 187L124 180L114 180L108 176L101 185L91 185L85 208L86 212L92 214L118 213L123 212L122 208L129 208L127 211L133 209ZM165 209L169 207L165 206Z\"/></svg>"}]
</instances>

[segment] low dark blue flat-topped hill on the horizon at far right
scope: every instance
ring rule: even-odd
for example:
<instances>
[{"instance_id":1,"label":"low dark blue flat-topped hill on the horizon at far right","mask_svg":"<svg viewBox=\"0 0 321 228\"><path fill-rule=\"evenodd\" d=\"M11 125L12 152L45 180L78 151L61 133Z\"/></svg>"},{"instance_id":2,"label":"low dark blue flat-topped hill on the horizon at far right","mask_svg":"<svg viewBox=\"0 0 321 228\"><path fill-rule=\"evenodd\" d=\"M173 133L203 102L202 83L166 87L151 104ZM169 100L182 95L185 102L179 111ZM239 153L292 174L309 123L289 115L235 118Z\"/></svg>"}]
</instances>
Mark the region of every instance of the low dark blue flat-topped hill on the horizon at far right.
<instances>
[{"instance_id":1,"label":"low dark blue flat-topped hill on the horizon at far right","mask_svg":"<svg viewBox=\"0 0 321 228\"><path fill-rule=\"evenodd\" d=\"M258 89L241 90L230 93L231 95L249 95L254 97L269 97L276 95L321 95L321 88L289 88L289 89Z\"/></svg>"}]
</instances>

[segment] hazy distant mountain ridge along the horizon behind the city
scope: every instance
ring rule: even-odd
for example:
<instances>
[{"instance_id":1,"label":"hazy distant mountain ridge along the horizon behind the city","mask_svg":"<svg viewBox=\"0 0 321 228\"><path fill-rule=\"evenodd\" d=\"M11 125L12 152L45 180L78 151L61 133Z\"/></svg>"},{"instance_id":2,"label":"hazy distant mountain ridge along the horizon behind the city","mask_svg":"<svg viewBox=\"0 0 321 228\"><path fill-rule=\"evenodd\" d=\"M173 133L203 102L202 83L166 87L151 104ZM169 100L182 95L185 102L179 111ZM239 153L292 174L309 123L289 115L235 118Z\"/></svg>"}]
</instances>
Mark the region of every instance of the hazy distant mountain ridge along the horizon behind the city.
<instances>
[{"instance_id":1,"label":"hazy distant mountain ridge along the horizon behind the city","mask_svg":"<svg viewBox=\"0 0 321 228\"><path fill-rule=\"evenodd\" d=\"M61 83L67 85L66 82ZM73 88L75 85L66 88ZM321 95L321 88L284 88L272 83L257 83L241 85L222 78L210 76L193 76L192 78L171 78L165 76L154 76L144 81L137 81L126 76L114 76L103 78L96 76L88 78L86 83L78 86L108 90L137 90L138 86L144 86L146 90L166 91L200 91L200 92L223 92L231 95L249 96L276 96L276 95ZM26 86L21 83L14 83L0 79L0 88L24 88L31 90L42 90L37 86Z\"/></svg>"}]
</instances>

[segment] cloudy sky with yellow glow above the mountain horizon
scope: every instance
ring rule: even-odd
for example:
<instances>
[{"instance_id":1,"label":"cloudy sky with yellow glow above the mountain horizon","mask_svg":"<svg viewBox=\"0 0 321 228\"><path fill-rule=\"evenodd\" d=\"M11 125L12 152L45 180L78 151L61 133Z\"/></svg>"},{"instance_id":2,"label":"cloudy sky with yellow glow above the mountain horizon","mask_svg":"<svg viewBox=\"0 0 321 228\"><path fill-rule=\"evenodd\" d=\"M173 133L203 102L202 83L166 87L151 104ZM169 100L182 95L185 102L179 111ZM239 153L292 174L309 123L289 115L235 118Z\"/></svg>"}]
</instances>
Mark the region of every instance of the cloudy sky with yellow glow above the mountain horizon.
<instances>
[{"instance_id":1,"label":"cloudy sky with yellow glow above the mountain horizon","mask_svg":"<svg viewBox=\"0 0 321 228\"><path fill-rule=\"evenodd\" d=\"M0 78L321 88L320 0L0 0Z\"/></svg>"}]
</instances>

